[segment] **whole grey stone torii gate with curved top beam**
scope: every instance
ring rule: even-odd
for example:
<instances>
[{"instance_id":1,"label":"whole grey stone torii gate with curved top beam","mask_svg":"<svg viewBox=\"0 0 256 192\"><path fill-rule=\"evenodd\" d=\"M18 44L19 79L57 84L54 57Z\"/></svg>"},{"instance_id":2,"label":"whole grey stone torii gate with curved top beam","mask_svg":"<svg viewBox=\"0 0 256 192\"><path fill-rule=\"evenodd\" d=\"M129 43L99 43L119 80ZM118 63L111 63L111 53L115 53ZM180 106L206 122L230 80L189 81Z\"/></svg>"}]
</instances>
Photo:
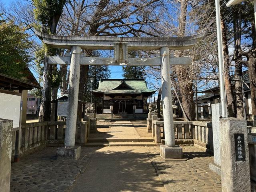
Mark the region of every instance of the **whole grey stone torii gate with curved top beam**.
<instances>
[{"instance_id":1,"label":"whole grey stone torii gate with curved top beam","mask_svg":"<svg viewBox=\"0 0 256 192\"><path fill-rule=\"evenodd\" d=\"M52 48L71 50L71 57L49 57L49 64L70 64L68 112L64 148L58 148L58 159L77 159L80 146L75 146L76 116L80 65L161 66L165 146L160 146L163 158L181 158L182 148L175 146L172 116L170 65L191 64L191 58L175 58L169 50L192 48L204 33L187 37L102 37L56 36L36 31L36 35ZM113 50L114 58L81 56L81 50ZM128 58L128 50L160 50L157 58Z\"/></svg>"}]
</instances>

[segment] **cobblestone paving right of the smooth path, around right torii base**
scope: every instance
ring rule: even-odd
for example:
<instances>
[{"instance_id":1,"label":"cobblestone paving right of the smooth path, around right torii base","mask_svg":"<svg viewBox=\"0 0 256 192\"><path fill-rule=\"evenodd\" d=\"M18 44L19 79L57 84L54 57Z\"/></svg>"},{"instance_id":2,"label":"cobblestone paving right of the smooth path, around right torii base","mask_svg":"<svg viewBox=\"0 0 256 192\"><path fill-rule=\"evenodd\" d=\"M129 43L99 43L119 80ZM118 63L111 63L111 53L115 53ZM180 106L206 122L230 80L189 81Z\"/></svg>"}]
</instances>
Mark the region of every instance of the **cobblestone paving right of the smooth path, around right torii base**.
<instances>
[{"instance_id":1,"label":"cobblestone paving right of the smooth path, around right torii base","mask_svg":"<svg viewBox=\"0 0 256 192\"><path fill-rule=\"evenodd\" d=\"M187 161L165 162L153 158L154 164L168 192L221 192L221 178L209 170L212 155L193 146L184 146ZM159 151L159 148L156 148Z\"/></svg>"}]
</instances>

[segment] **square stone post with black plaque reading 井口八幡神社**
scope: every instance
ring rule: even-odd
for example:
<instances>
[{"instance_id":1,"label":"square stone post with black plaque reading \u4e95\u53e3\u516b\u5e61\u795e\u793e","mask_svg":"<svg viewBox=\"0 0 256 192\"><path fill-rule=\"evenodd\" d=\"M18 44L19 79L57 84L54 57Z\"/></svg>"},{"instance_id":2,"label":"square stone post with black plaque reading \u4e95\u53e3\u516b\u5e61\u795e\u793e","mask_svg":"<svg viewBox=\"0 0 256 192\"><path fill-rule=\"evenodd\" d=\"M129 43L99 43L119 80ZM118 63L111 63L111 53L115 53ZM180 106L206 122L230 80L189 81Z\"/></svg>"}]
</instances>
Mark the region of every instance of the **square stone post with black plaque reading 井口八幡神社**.
<instances>
[{"instance_id":1,"label":"square stone post with black plaque reading \u4e95\u53e3\u516b\u5e61\u795e\u793e","mask_svg":"<svg viewBox=\"0 0 256 192\"><path fill-rule=\"evenodd\" d=\"M246 120L220 120L222 192L250 192L250 162Z\"/></svg>"}]
</instances>

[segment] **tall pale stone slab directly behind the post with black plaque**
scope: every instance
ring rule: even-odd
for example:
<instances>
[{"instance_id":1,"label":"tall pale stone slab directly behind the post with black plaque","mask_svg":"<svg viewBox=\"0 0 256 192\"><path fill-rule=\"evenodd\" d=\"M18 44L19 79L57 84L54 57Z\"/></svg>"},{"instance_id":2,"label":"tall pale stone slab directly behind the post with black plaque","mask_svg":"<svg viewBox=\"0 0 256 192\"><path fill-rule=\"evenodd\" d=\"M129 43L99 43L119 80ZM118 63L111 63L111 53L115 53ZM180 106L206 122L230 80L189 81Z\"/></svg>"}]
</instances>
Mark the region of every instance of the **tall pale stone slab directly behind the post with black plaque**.
<instances>
[{"instance_id":1,"label":"tall pale stone slab directly behind the post with black plaque","mask_svg":"<svg viewBox=\"0 0 256 192\"><path fill-rule=\"evenodd\" d=\"M221 104L212 104L212 135L214 149L214 163L209 163L209 169L221 176L220 169L220 116Z\"/></svg>"}]
</instances>

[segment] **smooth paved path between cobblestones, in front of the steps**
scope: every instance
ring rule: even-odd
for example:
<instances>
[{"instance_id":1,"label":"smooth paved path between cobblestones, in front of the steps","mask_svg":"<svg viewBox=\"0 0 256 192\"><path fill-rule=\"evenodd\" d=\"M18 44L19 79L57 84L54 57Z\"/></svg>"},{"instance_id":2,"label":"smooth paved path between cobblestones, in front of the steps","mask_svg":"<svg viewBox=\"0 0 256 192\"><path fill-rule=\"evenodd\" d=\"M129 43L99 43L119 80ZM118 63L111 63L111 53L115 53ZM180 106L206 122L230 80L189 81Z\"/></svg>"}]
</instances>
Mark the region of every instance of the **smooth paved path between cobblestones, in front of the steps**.
<instances>
[{"instance_id":1,"label":"smooth paved path between cobblestones, in front of the steps","mask_svg":"<svg viewBox=\"0 0 256 192\"><path fill-rule=\"evenodd\" d=\"M164 192L151 159L153 147L104 147L96 151L71 192Z\"/></svg>"}]
</instances>

